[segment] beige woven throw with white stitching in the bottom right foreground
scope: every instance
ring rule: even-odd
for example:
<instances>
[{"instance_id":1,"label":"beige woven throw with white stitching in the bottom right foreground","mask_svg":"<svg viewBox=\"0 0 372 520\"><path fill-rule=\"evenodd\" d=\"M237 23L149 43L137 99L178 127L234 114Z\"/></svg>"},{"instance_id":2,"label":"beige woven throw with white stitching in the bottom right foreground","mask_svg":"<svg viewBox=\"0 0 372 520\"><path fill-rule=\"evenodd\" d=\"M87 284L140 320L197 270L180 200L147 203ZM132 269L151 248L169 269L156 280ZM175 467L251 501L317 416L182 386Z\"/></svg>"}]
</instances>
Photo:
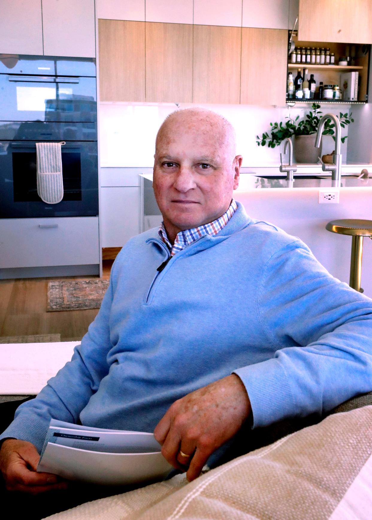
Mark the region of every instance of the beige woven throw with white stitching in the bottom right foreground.
<instances>
[{"instance_id":1,"label":"beige woven throw with white stitching in the bottom right foreground","mask_svg":"<svg viewBox=\"0 0 372 520\"><path fill-rule=\"evenodd\" d=\"M49 520L370 520L372 406L211 470L87 502Z\"/></svg>"}]
</instances>

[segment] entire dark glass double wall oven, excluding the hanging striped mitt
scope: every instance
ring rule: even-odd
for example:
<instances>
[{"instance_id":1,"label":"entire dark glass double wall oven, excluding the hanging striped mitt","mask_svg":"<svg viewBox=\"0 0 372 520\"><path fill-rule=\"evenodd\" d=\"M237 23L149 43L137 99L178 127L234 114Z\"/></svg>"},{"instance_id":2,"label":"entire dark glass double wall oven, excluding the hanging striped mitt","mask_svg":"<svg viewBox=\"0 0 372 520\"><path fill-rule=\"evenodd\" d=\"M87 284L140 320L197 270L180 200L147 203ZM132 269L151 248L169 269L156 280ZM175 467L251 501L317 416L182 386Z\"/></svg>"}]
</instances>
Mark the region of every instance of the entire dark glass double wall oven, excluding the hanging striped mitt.
<instances>
[{"instance_id":1,"label":"entire dark glass double wall oven, excluding the hanging striped mitt","mask_svg":"<svg viewBox=\"0 0 372 520\"><path fill-rule=\"evenodd\" d=\"M98 215L95 75L90 58L0 55L0 218ZM36 188L36 142L48 141L65 141L57 204Z\"/></svg>"}]
</instances>

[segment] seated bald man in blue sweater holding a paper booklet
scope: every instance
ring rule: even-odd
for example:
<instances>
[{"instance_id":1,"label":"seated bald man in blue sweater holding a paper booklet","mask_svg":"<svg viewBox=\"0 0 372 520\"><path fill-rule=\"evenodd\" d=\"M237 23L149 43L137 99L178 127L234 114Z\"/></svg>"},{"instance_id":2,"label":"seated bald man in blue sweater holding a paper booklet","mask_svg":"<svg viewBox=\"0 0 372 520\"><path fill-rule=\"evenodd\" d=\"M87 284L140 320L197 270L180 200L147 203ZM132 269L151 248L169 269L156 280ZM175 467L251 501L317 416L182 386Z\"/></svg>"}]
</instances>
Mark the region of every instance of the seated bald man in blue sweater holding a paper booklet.
<instances>
[{"instance_id":1,"label":"seated bald man in blue sweater holding a paper booklet","mask_svg":"<svg viewBox=\"0 0 372 520\"><path fill-rule=\"evenodd\" d=\"M238 438L249 451L242 432L371 391L372 301L246 214L233 199L241 161L214 112L164 121L153 168L163 223L124 245L71 362L0 436L8 489L61 485L35 473L51 417L153 432L193 480Z\"/></svg>"}]
</instances>

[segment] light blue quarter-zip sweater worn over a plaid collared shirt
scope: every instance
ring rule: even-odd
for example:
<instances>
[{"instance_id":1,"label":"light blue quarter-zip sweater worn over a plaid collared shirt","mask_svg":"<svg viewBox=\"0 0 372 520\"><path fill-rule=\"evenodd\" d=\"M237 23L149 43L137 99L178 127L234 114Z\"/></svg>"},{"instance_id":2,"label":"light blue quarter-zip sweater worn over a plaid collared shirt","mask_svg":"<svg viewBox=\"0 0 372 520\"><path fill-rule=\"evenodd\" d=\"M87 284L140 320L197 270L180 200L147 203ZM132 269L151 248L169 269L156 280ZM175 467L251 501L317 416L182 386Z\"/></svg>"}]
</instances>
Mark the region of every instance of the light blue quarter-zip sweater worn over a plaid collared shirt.
<instances>
[{"instance_id":1,"label":"light blue quarter-zip sweater worn over a plaid collared shirt","mask_svg":"<svg viewBox=\"0 0 372 520\"><path fill-rule=\"evenodd\" d=\"M50 418L153 432L178 398L235 372L253 428L321 414L372 390L372 300L243 206L170 256L151 229L127 242L81 345L0 436L39 452Z\"/></svg>"}]
</instances>

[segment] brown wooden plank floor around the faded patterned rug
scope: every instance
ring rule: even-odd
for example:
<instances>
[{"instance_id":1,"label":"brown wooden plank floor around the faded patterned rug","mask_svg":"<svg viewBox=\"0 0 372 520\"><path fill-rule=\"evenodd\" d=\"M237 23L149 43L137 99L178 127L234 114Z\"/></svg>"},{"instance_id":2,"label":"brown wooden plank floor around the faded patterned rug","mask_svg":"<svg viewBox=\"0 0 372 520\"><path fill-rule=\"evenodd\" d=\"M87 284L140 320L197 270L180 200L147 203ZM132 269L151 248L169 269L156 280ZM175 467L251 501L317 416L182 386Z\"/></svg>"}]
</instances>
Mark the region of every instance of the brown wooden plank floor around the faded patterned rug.
<instances>
[{"instance_id":1,"label":"brown wooden plank floor around the faded patterned rug","mask_svg":"<svg viewBox=\"0 0 372 520\"><path fill-rule=\"evenodd\" d=\"M110 278L113 260L104 260L103 279ZM80 341L98 309L47 313L49 280L96 276L0 280L0 336L60 334L61 341Z\"/></svg>"}]
</instances>

